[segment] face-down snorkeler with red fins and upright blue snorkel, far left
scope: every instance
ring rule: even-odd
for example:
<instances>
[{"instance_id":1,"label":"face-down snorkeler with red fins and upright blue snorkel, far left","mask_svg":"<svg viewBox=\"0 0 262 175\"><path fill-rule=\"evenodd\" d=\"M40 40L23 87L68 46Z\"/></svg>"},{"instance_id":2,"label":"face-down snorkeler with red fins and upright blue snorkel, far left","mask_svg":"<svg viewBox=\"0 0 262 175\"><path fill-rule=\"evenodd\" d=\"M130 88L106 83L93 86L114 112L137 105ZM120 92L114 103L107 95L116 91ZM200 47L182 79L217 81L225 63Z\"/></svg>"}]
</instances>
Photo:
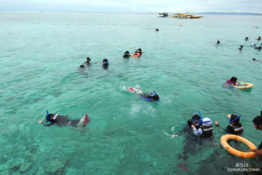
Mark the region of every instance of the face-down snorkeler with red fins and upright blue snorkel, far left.
<instances>
[{"instance_id":1,"label":"face-down snorkeler with red fins and upright blue snorkel, far left","mask_svg":"<svg viewBox=\"0 0 262 175\"><path fill-rule=\"evenodd\" d=\"M48 113L48 111L47 111ZM53 114L48 114L45 116L46 118L46 123L47 122L51 122L49 124L45 124L43 123L44 120L39 120L38 122L40 124L43 124L44 126L52 126L52 125L58 125L60 127L65 126L65 125L70 125L72 127L81 127L81 126L85 126L87 125L87 123L89 122L89 118L88 118L88 114L86 113L86 115L82 118L82 119L76 119L76 120L69 120L68 117L65 116L61 116L59 114L53 113Z\"/></svg>"}]
</instances>

